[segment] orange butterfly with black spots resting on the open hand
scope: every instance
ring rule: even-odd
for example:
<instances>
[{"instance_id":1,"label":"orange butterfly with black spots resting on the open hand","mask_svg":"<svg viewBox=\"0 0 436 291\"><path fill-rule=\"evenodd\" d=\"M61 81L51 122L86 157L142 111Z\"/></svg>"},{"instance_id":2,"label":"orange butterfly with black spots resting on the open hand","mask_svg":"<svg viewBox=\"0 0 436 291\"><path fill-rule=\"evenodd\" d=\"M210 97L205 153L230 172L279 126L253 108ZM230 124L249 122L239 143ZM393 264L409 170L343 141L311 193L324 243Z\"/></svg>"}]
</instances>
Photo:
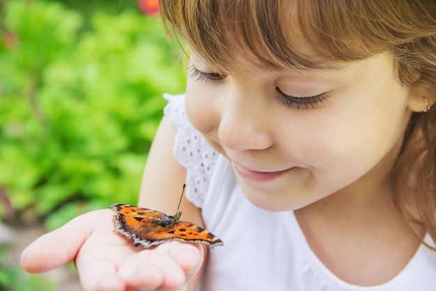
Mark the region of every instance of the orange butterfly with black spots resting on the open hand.
<instances>
[{"instance_id":1,"label":"orange butterfly with black spots resting on the open hand","mask_svg":"<svg viewBox=\"0 0 436 291\"><path fill-rule=\"evenodd\" d=\"M185 189L185 186L183 187ZM183 195L183 192L182 192ZM180 201L182 197L180 197ZM150 248L165 241L206 244L210 248L223 246L221 239L194 223L180 221L182 212L169 216L163 212L127 204L111 204L115 211L115 231L132 239L135 246Z\"/></svg>"}]
</instances>

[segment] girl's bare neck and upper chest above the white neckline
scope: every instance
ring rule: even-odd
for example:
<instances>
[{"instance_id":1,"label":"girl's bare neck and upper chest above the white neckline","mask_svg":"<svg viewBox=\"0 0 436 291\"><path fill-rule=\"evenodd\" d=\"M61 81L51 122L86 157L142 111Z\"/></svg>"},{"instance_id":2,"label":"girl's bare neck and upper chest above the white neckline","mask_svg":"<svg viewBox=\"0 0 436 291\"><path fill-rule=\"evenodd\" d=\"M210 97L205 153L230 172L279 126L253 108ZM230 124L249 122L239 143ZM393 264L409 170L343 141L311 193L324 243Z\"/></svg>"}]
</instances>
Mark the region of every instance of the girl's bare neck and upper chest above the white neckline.
<instances>
[{"instance_id":1,"label":"girl's bare neck and upper chest above the white neckline","mask_svg":"<svg viewBox=\"0 0 436 291\"><path fill-rule=\"evenodd\" d=\"M318 259L355 285L391 280L421 244L391 202L387 183L350 185L295 211L295 217Z\"/></svg>"}]
</instances>

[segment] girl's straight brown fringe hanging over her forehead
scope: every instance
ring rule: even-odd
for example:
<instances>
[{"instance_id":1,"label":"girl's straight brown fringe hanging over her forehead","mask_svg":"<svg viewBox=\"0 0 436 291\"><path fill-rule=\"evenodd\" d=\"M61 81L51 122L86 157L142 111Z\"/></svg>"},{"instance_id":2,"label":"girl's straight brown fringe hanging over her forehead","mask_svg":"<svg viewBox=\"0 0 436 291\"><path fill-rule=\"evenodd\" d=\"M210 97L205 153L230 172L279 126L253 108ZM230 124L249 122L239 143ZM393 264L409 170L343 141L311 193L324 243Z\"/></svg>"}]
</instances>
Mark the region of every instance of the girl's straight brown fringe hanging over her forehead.
<instances>
[{"instance_id":1,"label":"girl's straight brown fringe hanging over her forehead","mask_svg":"<svg viewBox=\"0 0 436 291\"><path fill-rule=\"evenodd\" d=\"M352 27L352 11L338 9L336 1L328 9L315 0L183 3L174 3L166 17L217 73L247 63L268 70L335 70L387 50L368 46L357 33L364 28Z\"/></svg>"}]
</instances>

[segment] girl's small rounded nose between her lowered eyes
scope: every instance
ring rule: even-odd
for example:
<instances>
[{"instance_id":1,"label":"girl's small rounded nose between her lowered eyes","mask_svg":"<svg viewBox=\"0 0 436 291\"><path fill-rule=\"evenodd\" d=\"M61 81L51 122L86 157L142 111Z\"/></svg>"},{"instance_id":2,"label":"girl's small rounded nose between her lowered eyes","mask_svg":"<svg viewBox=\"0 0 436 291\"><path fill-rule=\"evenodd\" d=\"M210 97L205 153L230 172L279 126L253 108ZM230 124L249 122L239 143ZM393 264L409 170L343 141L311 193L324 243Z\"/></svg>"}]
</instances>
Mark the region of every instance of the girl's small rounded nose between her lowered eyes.
<instances>
[{"instance_id":1,"label":"girl's small rounded nose between her lowered eyes","mask_svg":"<svg viewBox=\"0 0 436 291\"><path fill-rule=\"evenodd\" d=\"M228 91L218 128L221 143L232 151L271 147L274 140L267 103L267 98L254 90L232 88Z\"/></svg>"}]
</instances>

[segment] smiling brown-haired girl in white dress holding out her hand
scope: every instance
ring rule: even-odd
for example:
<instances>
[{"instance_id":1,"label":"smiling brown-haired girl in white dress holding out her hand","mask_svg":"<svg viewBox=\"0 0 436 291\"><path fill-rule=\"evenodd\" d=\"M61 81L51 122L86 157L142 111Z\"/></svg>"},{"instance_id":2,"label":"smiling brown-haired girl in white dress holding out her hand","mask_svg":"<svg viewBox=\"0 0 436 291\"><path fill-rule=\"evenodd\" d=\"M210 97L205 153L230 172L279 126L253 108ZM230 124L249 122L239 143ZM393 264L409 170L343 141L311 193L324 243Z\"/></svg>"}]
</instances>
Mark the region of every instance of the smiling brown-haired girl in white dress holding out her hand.
<instances>
[{"instance_id":1,"label":"smiling brown-haired girl in white dress holding out her hand","mask_svg":"<svg viewBox=\"0 0 436 291\"><path fill-rule=\"evenodd\" d=\"M105 209L35 241L24 269L75 260L84 290L436 290L434 1L161 10L189 76L139 205L173 214L186 181L182 220L224 247L134 248Z\"/></svg>"}]
</instances>

